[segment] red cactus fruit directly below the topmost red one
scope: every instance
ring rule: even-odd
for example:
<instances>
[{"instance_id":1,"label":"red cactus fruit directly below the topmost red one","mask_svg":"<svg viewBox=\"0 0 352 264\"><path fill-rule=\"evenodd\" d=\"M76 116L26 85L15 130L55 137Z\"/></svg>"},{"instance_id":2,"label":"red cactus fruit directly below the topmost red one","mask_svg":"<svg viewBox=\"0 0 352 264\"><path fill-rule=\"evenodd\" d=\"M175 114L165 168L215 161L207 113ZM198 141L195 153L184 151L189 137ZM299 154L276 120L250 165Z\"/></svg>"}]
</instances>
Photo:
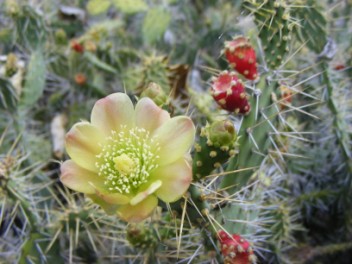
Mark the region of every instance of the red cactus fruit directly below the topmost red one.
<instances>
[{"instance_id":1,"label":"red cactus fruit directly below the topmost red one","mask_svg":"<svg viewBox=\"0 0 352 264\"><path fill-rule=\"evenodd\" d=\"M213 77L211 94L221 108L235 113L247 114L251 106L242 81L235 72L223 71Z\"/></svg>"}]
</instances>

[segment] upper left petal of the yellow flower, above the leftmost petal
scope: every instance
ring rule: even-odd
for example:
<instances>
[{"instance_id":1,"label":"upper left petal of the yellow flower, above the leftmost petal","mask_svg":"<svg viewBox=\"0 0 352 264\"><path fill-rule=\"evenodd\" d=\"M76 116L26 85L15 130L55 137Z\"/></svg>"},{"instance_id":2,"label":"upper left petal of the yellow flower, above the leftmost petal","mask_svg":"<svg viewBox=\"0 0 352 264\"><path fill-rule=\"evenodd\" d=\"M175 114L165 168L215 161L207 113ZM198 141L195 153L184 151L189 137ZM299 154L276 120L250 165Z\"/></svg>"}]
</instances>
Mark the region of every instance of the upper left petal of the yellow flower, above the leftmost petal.
<instances>
[{"instance_id":1,"label":"upper left petal of the yellow flower, above the leftmost petal","mask_svg":"<svg viewBox=\"0 0 352 264\"><path fill-rule=\"evenodd\" d=\"M79 166L97 171L96 155L100 152L99 143L105 141L104 135L88 122L75 124L66 134L66 151L71 159Z\"/></svg>"}]
</instances>

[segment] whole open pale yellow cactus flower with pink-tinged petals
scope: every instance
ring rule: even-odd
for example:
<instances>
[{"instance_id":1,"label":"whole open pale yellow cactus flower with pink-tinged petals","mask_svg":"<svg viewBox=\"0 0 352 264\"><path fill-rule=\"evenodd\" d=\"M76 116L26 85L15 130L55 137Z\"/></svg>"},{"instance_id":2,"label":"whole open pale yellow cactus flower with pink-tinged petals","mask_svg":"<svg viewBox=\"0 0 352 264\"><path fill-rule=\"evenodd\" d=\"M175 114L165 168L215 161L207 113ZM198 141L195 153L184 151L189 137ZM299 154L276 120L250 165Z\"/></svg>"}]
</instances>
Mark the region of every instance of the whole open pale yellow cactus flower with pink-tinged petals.
<instances>
[{"instance_id":1,"label":"whole open pale yellow cactus flower with pink-tinged petals","mask_svg":"<svg viewBox=\"0 0 352 264\"><path fill-rule=\"evenodd\" d=\"M189 117L170 118L149 98L134 108L126 94L114 93L96 102L91 122L67 133L71 159L61 165L60 179L107 213L138 222L153 212L158 198L174 202L188 189L194 136Z\"/></svg>"}]
</instances>

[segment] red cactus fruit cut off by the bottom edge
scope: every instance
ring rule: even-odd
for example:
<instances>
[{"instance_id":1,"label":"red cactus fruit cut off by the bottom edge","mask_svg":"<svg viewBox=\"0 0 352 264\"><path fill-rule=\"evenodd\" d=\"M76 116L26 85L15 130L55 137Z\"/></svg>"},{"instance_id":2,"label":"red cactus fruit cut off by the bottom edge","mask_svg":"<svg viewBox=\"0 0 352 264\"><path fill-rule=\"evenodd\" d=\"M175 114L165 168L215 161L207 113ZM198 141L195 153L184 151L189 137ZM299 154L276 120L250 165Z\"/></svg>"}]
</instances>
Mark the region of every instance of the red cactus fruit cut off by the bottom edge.
<instances>
[{"instance_id":1,"label":"red cactus fruit cut off by the bottom edge","mask_svg":"<svg viewBox=\"0 0 352 264\"><path fill-rule=\"evenodd\" d=\"M228 235L220 230L218 238L225 264L254 264L257 261L250 243L240 235Z\"/></svg>"}]
</instances>

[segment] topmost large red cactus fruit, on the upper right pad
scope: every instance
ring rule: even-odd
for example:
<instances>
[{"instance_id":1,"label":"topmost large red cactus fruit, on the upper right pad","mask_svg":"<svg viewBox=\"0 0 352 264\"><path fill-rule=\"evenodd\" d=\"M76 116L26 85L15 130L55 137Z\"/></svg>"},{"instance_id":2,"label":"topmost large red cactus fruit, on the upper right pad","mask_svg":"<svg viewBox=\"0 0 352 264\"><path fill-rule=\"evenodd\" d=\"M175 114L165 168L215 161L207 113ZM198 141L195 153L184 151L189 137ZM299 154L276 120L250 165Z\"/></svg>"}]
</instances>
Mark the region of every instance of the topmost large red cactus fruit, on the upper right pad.
<instances>
[{"instance_id":1,"label":"topmost large red cactus fruit, on the upper right pad","mask_svg":"<svg viewBox=\"0 0 352 264\"><path fill-rule=\"evenodd\" d=\"M231 41L226 41L223 52L231 67L246 79L256 80L258 78L255 50L247 38L238 36Z\"/></svg>"}]
</instances>

